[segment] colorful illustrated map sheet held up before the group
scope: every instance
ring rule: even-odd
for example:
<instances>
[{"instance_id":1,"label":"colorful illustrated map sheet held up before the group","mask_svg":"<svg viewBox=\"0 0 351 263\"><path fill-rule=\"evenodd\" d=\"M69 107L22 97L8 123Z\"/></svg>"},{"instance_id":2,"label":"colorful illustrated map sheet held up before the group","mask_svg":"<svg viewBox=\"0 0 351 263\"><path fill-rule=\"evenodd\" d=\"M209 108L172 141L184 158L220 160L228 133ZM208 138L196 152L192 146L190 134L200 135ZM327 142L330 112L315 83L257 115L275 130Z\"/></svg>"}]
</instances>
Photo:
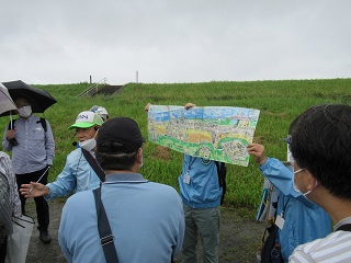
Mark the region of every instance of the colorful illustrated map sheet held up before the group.
<instances>
[{"instance_id":1,"label":"colorful illustrated map sheet held up before the group","mask_svg":"<svg viewBox=\"0 0 351 263\"><path fill-rule=\"evenodd\" d=\"M185 155L247 167L260 111L150 105L149 140Z\"/></svg>"}]
</instances>

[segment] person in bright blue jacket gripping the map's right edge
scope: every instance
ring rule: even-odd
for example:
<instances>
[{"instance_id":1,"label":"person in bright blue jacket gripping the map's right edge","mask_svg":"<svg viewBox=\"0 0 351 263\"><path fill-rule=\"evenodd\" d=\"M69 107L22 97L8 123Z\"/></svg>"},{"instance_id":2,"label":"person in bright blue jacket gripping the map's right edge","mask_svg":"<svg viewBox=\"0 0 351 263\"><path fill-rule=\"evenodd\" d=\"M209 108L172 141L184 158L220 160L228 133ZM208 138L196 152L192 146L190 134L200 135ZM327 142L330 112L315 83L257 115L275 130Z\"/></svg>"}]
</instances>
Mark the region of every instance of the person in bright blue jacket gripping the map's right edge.
<instances>
[{"instance_id":1,"label":"person in bright blue jacket gripping the map's right edge","mask_svg":"<svg viewBox=\"0 0 351 263\"><path fill-rule=\"evenodd\" d=\"M320 206L294 190L293 172L280 160L267 158L262 145L249 144L247 149L256 158L262 174L280 191L275 219L280 220L276 224L278 243L283 261L287 262L298 244L324 238L331 232L330 217Z\"/></svg>"}]
</instances>

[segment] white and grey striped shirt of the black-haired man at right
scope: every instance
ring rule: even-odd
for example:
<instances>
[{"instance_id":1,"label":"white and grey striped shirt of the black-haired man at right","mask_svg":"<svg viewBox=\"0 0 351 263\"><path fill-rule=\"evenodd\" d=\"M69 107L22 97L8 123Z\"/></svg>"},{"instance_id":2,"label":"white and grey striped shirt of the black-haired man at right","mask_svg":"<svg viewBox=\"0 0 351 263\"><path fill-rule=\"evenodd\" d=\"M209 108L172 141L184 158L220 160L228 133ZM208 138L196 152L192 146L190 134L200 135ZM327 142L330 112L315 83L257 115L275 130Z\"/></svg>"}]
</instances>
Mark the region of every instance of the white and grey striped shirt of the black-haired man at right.
<instances>
[{"instance_id":1,"label":"white and grey striped shirt of the black-haired man at right","mask_svg":"<svg viewBox=\"0 0 351 263\"><path fill-rule=\"evenodd\" d=\"M324 239L298 245L288 258L293 263L351 262L351 232L336 231Z\"/></svg>"}]
</instances>

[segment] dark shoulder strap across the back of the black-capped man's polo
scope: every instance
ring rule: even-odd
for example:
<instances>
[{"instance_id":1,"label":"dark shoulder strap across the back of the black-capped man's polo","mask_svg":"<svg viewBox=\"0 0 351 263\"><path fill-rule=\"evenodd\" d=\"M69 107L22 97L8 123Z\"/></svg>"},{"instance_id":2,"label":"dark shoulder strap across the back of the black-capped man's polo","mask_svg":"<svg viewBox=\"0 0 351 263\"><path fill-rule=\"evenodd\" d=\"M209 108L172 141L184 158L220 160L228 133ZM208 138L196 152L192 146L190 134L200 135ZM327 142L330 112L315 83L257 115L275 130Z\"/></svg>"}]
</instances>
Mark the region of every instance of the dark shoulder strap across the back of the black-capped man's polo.
<instances>
[{"instance_id":1,"label":"dark shoulder strap across the back of the black-capped man's polo","mask_svg":"<svg viewBox=\"0 0 351 263\"><path fill-rule=\"evenodd\" d=\"M102 245L103 253L107 263L118 263L116 248L114 247L114 237L112 235L109 218L105 208L101 201L101 187L92 191L94 194L97 215L98 215L98 229L100 235L100 244Z\"/></svg>"}]
</instances>

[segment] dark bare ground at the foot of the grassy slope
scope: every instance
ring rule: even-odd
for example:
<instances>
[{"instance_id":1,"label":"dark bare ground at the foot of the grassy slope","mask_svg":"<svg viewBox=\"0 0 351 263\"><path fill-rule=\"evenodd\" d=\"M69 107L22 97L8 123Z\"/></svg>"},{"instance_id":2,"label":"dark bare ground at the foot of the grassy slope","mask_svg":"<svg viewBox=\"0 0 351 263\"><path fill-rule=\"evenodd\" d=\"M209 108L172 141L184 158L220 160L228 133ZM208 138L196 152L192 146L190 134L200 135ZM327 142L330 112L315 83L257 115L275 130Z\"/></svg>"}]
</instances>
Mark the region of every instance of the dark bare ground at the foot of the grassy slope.
<instances>
[{"instance_id":1,"label":"dark bare ground at the foot of the grassy slope","mask_svg":"<svg viewBox=\"0 0 351 263\"><path fill-rule=\"evenodd\" d=\"M43 244L38 238L38 231L34 228L26 258L27 263L67 262L57 241L57 230L64 205L65 199L49 202L49 232L53 240L49 244ZM36 221L33 199L29 199L26 206L27 214ZM267 226L254 221L254 211L222 207L220 213L219 263L256 263L256 253L261 245ZM177 262L181 262L181 256Z\"/></svg>"}]
</instances>

